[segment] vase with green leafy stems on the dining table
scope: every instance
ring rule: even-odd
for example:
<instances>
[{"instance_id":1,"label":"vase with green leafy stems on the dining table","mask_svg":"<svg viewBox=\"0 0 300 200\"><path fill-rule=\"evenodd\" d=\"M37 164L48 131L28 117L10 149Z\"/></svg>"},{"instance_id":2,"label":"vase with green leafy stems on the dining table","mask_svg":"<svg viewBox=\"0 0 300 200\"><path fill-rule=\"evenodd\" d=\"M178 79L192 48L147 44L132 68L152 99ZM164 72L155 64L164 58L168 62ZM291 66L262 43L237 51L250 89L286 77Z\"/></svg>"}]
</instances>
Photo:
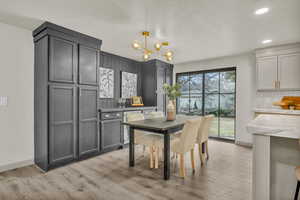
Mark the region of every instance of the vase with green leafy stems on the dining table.
<instances>
[{"instance_id":1,"label":"vase with green leafy stems on the dining table","mask_svg":"<svg viewBox=\"0 0 300 200\"><path fill-rule=\"evenodd\" d=\"M167 120L172 121L176 119L176 98L181 96L181 85L176 83L175 85L164 84L163 89L168 96L169 102L167 105Z\"/></svg>"}]
</instances>

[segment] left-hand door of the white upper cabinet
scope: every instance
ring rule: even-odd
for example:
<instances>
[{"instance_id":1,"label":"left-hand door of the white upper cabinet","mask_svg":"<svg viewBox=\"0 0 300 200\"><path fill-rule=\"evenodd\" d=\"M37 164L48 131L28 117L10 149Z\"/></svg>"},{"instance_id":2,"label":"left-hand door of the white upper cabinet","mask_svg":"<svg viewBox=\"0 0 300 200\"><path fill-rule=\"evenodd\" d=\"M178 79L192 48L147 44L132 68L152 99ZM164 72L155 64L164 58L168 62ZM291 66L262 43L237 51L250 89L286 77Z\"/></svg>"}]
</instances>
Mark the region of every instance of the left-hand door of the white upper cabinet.
<instances>
[{"instance_id":1,"label":"left-hand door of the white upper cabinet","mask_svg":"<svg viewBox=\"0 0 300 200\"><path fill-rule=\"evenodd\" d=\"M257 59L257 84L259 90L276 89L277 56Z\"/></svg>"}]
</instances>

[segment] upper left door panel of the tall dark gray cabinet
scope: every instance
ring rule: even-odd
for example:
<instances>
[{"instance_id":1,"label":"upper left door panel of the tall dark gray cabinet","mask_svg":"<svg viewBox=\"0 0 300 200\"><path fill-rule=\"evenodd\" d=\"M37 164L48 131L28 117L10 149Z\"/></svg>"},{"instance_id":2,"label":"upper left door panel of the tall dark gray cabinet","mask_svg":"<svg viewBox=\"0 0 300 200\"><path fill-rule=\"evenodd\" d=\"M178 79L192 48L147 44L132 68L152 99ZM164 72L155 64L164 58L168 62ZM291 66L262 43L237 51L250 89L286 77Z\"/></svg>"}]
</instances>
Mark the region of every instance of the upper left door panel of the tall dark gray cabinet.
<instances>
[{"instance_id":1,"label":"upper left door panel of the tall dark gray cabinet","mask_svg":"<svg viewBox=\"0 0 300 200\"><path fill-rule=\"evenodd\" d=\"M49 80L74 83L77 68L77 46L74 42L50 37Z\"/></svg>"}]
</instances>

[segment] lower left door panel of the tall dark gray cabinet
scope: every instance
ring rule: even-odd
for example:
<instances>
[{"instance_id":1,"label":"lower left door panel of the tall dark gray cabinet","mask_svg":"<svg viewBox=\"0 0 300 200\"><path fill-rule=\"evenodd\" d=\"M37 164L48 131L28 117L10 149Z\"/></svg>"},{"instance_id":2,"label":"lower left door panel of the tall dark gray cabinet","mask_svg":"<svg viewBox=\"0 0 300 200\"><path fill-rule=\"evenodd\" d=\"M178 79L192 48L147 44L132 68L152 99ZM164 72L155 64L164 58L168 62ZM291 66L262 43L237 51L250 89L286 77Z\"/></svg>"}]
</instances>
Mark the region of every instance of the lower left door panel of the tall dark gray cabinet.
<instances>
[{"instance_id":1,"label":"lower left door panel of the tall dark gray cabinet","mask_svg":"<svg viewBox=\"0 0 300 200\"><path fill-rule=\"evenodd\" d=\"M57 165L76 157L75 87L49 86L49 163Z\"/></svg>"}]
</instances>

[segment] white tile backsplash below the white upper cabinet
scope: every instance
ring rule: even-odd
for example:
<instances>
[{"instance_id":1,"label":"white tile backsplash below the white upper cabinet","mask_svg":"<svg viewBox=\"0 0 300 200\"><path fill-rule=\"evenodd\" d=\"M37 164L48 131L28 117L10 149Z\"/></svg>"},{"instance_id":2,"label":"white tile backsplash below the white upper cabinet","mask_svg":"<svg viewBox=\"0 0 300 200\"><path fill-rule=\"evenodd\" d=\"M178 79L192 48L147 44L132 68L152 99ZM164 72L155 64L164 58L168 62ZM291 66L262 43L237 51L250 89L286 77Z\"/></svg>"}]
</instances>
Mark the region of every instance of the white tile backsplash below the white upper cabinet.
<instances>
[{"instance_id":1,"label":"white tile backsplash below the white upper cabinet","mask_svg":"<svg viewBox=\"0 0 300 200\"><path fill-rule=\"evenodd\" d=\"M257 92L255 108L279 108L272 103L280 101L283 96L300 96L300 91Z\"/></svg>"}]
</instances>

